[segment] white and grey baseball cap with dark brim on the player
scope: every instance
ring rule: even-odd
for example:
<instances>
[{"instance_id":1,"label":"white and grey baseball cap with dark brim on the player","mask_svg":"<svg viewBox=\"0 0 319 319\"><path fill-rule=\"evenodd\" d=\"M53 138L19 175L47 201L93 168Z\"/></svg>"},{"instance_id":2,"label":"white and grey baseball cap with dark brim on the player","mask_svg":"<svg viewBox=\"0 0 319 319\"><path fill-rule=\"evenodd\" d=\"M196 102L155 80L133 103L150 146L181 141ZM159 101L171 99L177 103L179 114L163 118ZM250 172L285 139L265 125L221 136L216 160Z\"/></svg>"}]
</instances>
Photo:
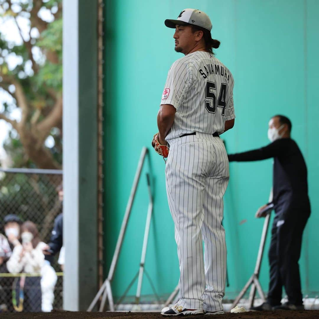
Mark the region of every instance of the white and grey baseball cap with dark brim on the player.
<instances>
[{"instance_id":1,"label":"white and grey baseball cap with dark brim on the player","mask_svg":"<svg viewBox=\"0 0 319 319\"><path fill-rule=\"evenodd\" d=\"M184 9L177 17L177 20L165 20L165 25L168 28L175 29L176 24L182 26L191 24L194 26L201 26L202 28L211 31L211 19L209 19L209 16L205 12L197 9Z\"/></svg>"}]
</instances>

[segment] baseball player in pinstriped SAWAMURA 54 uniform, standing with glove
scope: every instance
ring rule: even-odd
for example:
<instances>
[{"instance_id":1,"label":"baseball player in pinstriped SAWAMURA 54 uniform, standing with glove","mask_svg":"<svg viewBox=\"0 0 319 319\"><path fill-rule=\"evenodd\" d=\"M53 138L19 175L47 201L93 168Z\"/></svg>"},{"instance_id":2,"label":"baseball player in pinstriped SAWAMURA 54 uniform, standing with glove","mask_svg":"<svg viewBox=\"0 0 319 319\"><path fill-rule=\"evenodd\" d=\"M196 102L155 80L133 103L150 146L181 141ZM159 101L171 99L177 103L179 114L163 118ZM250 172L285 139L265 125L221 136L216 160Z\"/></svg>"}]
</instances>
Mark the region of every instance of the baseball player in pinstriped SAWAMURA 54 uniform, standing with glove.
<instances>
[{"instance_id":1,"label":"baseball player in pinstriped SAWAMURA 54 uniform, standing with glove","mask_svg":"<svg viewBox=\"0 0 319 319\"><path fill-rule=\"evenodd\" d=\"M161 314L221 314L226 277L221 222L229 165L219 135L234 126L234 79L214 56L212 48L220 42L211 38L207 14L184 9L165 25L175 29L175 51L185 56L168 72L159 133L152 141L168 156L166 189L180 264L179 301Z\"/></svg>"}]
</instances>

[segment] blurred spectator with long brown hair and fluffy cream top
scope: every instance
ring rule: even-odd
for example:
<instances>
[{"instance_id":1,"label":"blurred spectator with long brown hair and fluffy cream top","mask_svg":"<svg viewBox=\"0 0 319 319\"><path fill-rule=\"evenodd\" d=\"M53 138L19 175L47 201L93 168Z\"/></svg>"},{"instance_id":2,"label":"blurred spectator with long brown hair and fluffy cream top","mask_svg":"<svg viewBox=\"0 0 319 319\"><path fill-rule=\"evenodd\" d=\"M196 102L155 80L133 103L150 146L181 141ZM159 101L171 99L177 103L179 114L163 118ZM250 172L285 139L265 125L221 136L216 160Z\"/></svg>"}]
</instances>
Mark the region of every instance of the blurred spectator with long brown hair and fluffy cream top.
<instances>
[{"instance_id":1,"label":"blurred spectator with long brown hair and fluffy cream top","mask_svg":"<svg viewBox=\"0 0 319 319\"><path fill-rule=\"evenodd\" d=\"M45 243L40 241L35 224L26 221L21 226L21 239L16 242L12 255L7 262L8 271L11 273L40 273L44 264L42 252ZM14 280L12 303L16 311L40 312L41 311L41 278L40 276L22 276Z\"/></svg>"}]
</instances>

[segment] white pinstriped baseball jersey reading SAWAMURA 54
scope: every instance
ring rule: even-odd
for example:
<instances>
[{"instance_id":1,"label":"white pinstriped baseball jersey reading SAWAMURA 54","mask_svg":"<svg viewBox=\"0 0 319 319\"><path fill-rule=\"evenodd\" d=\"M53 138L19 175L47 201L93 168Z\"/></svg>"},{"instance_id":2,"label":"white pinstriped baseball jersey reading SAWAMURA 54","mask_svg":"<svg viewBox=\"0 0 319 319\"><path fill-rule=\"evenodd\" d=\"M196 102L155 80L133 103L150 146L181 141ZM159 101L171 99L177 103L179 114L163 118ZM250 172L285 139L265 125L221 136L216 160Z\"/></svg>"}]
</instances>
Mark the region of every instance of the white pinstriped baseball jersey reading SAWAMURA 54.
<instances>
[{"instance_id":1,"label":"white pinstriped baseball jersey reading SAWAMURA 54","mask_svg":"<svg viewBox=\"0 0 319 319\"><path fill-rule=\"evenodd\" d=\"M176 108L169 141L186 133L222 133L235 118L234 79L209 52L196 51L175 61L167 76L161 104Z\"/></svg>"}]
</instances>

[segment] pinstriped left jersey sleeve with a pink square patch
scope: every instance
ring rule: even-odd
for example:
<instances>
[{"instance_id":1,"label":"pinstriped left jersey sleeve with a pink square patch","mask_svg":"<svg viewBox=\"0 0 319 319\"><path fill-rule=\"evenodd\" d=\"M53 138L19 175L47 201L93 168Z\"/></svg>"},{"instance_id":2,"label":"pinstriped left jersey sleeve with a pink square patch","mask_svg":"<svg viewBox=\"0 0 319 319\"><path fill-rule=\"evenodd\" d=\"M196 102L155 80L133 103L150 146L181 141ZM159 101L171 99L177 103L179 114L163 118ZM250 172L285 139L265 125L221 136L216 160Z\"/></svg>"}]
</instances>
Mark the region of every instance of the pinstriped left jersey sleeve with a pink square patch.
<instances>
[{"instance_id":1,"label":"pinstriped left jersey sleeve with a pink square patch","mask_svg":"<svg viewBox=\"0 0 319 319\"><path fill-rule=\"evenodd\" d=\"M176 61L168 71L160 104L171 104L178 109L192 84L192 69L185 62Z\"/></svg>"}]
</instances>

